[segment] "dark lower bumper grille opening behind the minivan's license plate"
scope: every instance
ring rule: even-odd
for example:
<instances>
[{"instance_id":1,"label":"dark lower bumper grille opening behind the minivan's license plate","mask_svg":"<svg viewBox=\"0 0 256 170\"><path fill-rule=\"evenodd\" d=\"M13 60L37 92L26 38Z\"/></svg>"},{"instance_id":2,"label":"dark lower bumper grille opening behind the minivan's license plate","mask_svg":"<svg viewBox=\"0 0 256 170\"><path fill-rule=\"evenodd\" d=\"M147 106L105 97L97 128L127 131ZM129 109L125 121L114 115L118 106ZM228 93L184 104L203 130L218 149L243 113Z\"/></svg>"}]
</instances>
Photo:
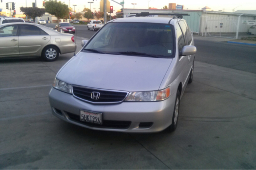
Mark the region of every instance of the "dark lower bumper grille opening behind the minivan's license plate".
<instances>
[{"instance_id":1,"label":"dark lower bumper grille opening behind the minivan's license plate","mask_svg":"<svg viewBox=\"0 0 256 170\"><path fill-rule=\"evenodd\" d=\"M73 113L68 113L68 112L66 112L66 113L68 114L69 118L72 119L73 121L76 121L78 123L82 123L82 124L90 126L90 127L127 129L131 124L130 121L102 120L102 125L98 125L98 124L94 124L94 123L80 121L80 116L79 115L75 115Z\"/></svg>"}]
</instances>

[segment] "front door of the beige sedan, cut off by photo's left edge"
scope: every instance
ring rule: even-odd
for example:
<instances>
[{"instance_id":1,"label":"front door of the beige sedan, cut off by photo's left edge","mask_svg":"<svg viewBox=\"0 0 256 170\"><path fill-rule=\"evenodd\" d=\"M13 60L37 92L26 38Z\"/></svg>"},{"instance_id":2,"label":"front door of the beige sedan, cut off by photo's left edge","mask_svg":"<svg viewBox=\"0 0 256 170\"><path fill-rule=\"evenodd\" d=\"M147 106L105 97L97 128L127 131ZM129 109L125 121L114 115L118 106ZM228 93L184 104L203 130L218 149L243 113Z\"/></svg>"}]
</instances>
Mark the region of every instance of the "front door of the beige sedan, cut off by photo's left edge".
<instances>
[{"instance_id":1,"label":"front door of the beige sedan, cut off by photo's left edge","mask_svg":"<svg viewBox=\"0 0 256 170\"><path fill-rule=\"evenodd\" d=\"M0 28L0 57L18 56L18 25L7 25Z\"/></svg>"}]
</instances>

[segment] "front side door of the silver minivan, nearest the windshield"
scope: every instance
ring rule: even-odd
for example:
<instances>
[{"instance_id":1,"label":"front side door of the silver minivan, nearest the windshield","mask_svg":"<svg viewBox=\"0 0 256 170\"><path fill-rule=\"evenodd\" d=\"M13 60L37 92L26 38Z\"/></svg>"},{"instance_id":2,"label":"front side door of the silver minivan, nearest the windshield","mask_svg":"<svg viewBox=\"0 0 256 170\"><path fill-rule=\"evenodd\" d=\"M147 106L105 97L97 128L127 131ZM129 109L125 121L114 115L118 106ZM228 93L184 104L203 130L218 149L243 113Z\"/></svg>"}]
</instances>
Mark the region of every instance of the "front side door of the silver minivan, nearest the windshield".
<instances>
[{"instance_id":1,"label":"front side door of the silver minivan, nearest the windshield","mask_svg":"<svg viewBox=\"0 0 256 170\"><path fill-rule=\"evenodd\" d=\"M177 39L178 39L178 49L179 53L181 52L182 48L186 45L185 37L182 33L182 29L178 23L176 23L176 31L177 31ZM183 94L186 84L188 82L188 56L179 56L179 62L178 62L178 70L180 72L180 76L182 78L182 92Z\"/></svg>"}]
</instances>

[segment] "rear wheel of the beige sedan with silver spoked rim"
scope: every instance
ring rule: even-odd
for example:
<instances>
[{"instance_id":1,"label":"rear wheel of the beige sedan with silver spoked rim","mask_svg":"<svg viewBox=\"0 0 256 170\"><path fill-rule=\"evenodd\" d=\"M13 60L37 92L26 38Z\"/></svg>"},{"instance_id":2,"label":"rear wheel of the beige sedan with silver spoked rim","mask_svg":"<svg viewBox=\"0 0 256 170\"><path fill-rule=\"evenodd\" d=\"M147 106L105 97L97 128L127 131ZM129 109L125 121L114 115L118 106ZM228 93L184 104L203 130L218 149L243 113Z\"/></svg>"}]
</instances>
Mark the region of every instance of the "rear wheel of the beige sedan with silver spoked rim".
<instances>
[{"instance_id":1,"label":"rear wheel of the beige sedan with silver spoked rim","mask_svg":"<svg viewBox=\"0 0 256 170\"><path fill-rule=\"evenodd\" d=\"M59 57L59 49L53 45L45 47L42 51L42 57L45 61L55 61Z\"/></svg>"}]
</instances>

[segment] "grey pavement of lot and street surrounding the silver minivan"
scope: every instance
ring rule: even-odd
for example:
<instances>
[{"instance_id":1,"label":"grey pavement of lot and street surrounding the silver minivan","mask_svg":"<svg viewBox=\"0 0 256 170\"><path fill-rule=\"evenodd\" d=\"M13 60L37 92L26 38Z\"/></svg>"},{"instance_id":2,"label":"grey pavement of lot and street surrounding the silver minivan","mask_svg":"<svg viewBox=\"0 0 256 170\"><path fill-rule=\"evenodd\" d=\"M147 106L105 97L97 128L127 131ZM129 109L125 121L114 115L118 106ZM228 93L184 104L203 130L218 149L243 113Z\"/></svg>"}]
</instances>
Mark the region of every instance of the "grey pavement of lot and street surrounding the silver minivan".
<instances>
[{"instance_id":1,"label":"grey pavement of lot and street surrounding the silver minivan","mask_svg":"<svg viewBox=\"0 0 256 170\"><path fill-rule=\"evenodd\" d=\"M80 27L77 51L94 34ZM0 169L255 169L256 48L206 39L195 36L174 133L94 131L54 117L51 84L74 54L0 59Z\"/></svg>"}]
</instances>

